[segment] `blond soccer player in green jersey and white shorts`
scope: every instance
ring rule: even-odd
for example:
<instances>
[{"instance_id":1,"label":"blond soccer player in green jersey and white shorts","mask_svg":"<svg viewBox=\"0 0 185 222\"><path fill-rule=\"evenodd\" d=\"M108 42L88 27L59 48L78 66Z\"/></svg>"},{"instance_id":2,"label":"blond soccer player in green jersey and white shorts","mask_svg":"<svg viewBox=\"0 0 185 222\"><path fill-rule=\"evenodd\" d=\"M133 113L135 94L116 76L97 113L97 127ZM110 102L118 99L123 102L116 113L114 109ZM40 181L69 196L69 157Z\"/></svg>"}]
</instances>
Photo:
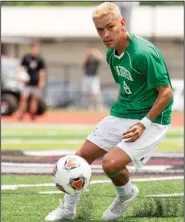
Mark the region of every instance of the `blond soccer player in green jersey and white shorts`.
<instances>
[{"instance_id":1,"label":"blond soccer player in green jersey and white shorts","mask_svg":"<svg viewBox=\"0 0 185 222\"><path fill-rule=\"evenodd\" d=\"M89 164L103 156L103 170L117 194L103 221L115 221L139 193L126 166L132 162L140 170L163 140L171 122L173 93L161 52L151 42L126 31L126 22L114 3L97 6L93 21L108 48L106 59L120 92L110 116L98 123L76 155ZM65 194L64 204L46 221L73 219L79 198L79 194Z\"/></svg>"}]
</instances>

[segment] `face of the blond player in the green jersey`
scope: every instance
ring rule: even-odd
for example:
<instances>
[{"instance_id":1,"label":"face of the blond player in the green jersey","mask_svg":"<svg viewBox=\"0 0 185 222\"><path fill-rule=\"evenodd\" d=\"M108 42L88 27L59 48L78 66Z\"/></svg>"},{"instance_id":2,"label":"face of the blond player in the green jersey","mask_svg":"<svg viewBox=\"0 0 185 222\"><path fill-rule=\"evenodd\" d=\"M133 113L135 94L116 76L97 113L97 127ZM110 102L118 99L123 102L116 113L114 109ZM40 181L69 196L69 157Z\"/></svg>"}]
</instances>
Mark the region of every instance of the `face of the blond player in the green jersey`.
<instances>
[{"instance_id":1,"label":"face of the blond player in the green jersey","mask_svg":"<svg viewBox=\"0 0 185 222\"><path fill-rule=\"evenodd\" d=\"M121 38L125 20L115 18L110 14L100 19L94 19L94 24L104 44L108 48L115 48Z\"/></svg>"}]
</instances>

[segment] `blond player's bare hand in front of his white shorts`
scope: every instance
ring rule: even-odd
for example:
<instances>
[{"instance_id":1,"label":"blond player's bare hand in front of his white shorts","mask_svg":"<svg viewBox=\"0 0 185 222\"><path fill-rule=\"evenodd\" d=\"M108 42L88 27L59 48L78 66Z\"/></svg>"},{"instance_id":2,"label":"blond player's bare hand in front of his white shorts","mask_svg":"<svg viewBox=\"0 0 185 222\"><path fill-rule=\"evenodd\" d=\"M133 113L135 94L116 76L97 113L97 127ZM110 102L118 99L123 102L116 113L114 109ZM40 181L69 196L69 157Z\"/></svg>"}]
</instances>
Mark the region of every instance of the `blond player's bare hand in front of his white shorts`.
<instances>
[{"instance_id":1,"label":"blond player's bare hand in front of his white shorts","mask_svg":"<svg viewBox=\"0 0 185 222\"><path fill-rule=\"evenodd\" d=\"M140 122L131 126L122 136L125 142L135 142L143 133L145 127Z\"/></svg>"}]
</instances>

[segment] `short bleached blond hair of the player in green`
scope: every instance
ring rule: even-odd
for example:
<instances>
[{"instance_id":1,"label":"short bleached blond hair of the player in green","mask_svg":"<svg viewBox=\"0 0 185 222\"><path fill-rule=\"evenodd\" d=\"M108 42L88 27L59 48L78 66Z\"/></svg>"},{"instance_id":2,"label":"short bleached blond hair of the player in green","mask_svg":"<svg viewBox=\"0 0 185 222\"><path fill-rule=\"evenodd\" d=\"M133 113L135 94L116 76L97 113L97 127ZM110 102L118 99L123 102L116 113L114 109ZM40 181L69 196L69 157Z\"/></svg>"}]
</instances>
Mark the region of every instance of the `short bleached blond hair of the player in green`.
<instances>
[{"instance_id":1,"label":"short bleached blond hair of the player in green","mask_svg":"<svg viewBox=\"0 0 185 222\"><path fill-rule=\"evenodd\" d=\"M112 2L103 2L93 11L92 18L99 19L112 14L115 18L122 18L119 7Z\"/></svg>"}]
</instances>

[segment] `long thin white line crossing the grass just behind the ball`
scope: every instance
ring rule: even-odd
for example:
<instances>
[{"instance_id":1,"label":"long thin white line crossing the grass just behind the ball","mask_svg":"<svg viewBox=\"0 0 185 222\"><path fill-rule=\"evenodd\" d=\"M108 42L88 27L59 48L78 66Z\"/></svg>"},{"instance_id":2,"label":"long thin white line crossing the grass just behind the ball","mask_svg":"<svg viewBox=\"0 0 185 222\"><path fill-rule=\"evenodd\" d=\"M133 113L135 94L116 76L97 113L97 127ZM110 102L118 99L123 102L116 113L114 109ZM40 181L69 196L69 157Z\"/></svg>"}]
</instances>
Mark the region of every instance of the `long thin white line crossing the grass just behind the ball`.
<instances>
[{"instance_id":1,"label":"long thin white line crossing the grass just behind the ball","mask_svg":"<svg viewBox=\"0 0 185 222\"><path fill-rule=\"evenodd\" d=\"M156 178L138 178L131 179L131 182L150 182L150 181L166 181L166 180L183 180L183 176L174 177L156 177ZM108 184L111 180L92 180L90 182L93 184ZM55 187L54 183L43 183L43 184L16 184L16 185L1 185L2 190L15 190L17 188L28 188L28 187Z\"/></svg>"}]
</instances>

